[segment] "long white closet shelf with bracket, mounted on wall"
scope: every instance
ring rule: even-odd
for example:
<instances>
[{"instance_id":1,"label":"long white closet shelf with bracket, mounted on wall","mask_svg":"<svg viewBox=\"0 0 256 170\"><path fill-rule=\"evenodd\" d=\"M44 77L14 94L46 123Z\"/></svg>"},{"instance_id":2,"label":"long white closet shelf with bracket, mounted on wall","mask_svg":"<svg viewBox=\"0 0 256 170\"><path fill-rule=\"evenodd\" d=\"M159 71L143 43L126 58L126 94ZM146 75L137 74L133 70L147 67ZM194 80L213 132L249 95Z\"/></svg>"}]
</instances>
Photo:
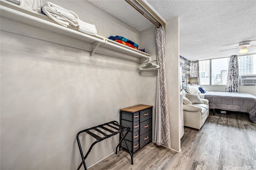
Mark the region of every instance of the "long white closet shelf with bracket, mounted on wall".
<instances>
[{"instance_id":1,"label":"long white closet shelf with bracket, mounted on wall","mask_svg":"<svg viewBox=\"0 0 256 170\"><path fill-rule=\"evenodd\" d=\"M26 24L36 28L54 32L56 34L60 34L63 36L68 36L70 38L81 40L86 43L91 43L92 47L94 47L91 51L92 52L91 57L94 53L97 53L98 46L104 47L113 51L117 51L120 53L124 53L126 55L130 55L131 57L136 57L138 59L140 58L149 59L149 57L151 56L148 53L144 53L132 47L128 47L121 43L109 40L108 38L105 38L99 35L89 35L89 34L80 32L76 27L72 27L72 26L64 27L54 22L46 15L40 14L39 12L30 10L30 9L26 9L16 4L12 4L11 2L8 2L8 1L0 0L0 10L1 10L1 18L14 20L22 24ZM124 57L123 59L129 60L127 59L127 57Z\"/></svg>"}]
</instances>

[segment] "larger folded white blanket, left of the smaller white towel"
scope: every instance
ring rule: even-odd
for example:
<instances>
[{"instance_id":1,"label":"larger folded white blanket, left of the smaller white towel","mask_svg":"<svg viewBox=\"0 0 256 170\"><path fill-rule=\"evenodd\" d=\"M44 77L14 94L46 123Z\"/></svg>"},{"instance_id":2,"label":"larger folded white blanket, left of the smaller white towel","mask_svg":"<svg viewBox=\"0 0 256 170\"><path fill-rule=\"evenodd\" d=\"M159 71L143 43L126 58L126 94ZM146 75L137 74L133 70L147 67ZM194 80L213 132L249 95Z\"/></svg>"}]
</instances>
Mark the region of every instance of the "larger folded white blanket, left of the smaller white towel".
<instances>
[{"instance_id":1,"label":"larger folded white blanket, left of the smaller white towel","mask_svg":"<svg viewBox=\"0 0 256 170\"><path fill-rule=\"evenodd\" d=\"M78 16L71 10L66 10L61 6L58 6L52 2L46 2L42 7L42 11L52 20L58 22L59 24L67 27L72 25L74 27L78 26Z\"/></svg>"}]
</instances>

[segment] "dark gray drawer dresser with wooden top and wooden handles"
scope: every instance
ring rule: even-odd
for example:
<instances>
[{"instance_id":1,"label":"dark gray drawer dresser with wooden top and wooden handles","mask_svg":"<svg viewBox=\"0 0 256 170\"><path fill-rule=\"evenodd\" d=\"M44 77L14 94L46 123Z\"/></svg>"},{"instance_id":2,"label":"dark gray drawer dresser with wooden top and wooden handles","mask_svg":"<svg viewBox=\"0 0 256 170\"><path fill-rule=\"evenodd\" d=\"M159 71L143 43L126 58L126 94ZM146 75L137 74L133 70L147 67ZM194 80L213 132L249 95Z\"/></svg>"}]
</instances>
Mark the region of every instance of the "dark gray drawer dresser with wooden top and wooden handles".
<instances>
[{"instance_id":1,"label":"dark gray drawer dresser with wooden top and wooden handles","mask_svg":"<svg viewBox=\"0 0 256 170\"><path fill-rule=\"evenodd\" d=\"M152 107L150 105L136 105L120 109L121 125L131 127L126 141L132 154L152 142ZM127 149L124 141L121 143L121 147Z\"/></svg>"}]
</instances>

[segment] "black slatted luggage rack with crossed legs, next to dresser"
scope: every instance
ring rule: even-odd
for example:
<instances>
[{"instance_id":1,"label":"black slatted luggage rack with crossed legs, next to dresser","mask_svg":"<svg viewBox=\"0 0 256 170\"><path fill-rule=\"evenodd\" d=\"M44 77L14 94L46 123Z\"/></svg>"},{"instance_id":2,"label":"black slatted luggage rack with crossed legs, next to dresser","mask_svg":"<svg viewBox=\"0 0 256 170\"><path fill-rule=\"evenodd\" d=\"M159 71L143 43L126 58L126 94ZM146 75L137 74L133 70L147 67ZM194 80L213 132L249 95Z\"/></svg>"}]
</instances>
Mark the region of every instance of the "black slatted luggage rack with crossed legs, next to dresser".
<instances>
[{"instance_id":1,"label":"black slatted luggage rack with crossed legs, next to dresser","mask_svg":"<svg viewBox=\"0 0 256 170\"><path fill-rule=\"evenodd\" d=\"M97 128L97 127L102 128L104 125L108 126L108 124L113 124L113 125L118 126L118 127L119 127L119 130L118 130L117 132L114 132L114 131L112 131L112 130L109 129L110 132L113 132L112 134L109 134L109 135L107 135L107 134L105 134L104 132L102 132L102 134L105 135L105 137L103 137L103 138L101 138L100 136L97 136L96 134L94 134L94 133L92 133L92 132L89 131L89 130L92 130L92 129ZM112 127L112 126L109 125L109 127ZM105 127L103 127L103 128L106 129ZM96 127L84 129L84 130L78 132L78 134L76 135L76 140L77 140L77 142L78 142L78 147L79 147L79 151L80 151L80 154L81 154L82 162L81 162L80 165L78 166L77 170L79 170L79 169L81 168L82 164L84 164L84 169L87 170L87 166L86 166L86 163L85 163L85 159L87 158L88 154L89 154L90 151L92 150L92 147L93 147L96 143L98 143L98 142L100 142L100 141L102 141L102 140L104 140L104 139L106 139L106 138L109 138L110 136L114 136L115 134L118 134L118 133L121 133L121 134L122 134L122 138L121 138L120 142L118 143L118 145L116 146L116 154L117 154L117 148L118 148L118 146L120 146L121 142L124 140L124 142L125 142L125 144L126 144L128 150L129 150L130 156L131 156L131 164L133 165L133 155L132 155L132 153L131 153L131 151L130 151L130 148L129 148L128 144L127 144L127 141L126 141L126 139L125 139L126 135L127 135L128 132L130 131L130 129L131 129L130 127L123 127L123 126L119 125L119 123L118 123L117 121L112 121L112 122L109 122L109 123L105 123L105 124L102 124L102 125L98 125L98 126L96 126ZM123 133L124 130L126 130L126 133L125 133L125 134ZM88 132L88 131L89 131L89 132ZM90 134L91 136L93 136L94 138L97 139L95 142L92 143L92 145L90 146L90 148L89 148L89 150L87 151L87 153L86 153L85 156L84 156L84 154L83 154L82 147L81 147L80 140L79 140L79 134L81 134L82 132L87 132L88 134Z\"/></svg>"}]
</instances>

